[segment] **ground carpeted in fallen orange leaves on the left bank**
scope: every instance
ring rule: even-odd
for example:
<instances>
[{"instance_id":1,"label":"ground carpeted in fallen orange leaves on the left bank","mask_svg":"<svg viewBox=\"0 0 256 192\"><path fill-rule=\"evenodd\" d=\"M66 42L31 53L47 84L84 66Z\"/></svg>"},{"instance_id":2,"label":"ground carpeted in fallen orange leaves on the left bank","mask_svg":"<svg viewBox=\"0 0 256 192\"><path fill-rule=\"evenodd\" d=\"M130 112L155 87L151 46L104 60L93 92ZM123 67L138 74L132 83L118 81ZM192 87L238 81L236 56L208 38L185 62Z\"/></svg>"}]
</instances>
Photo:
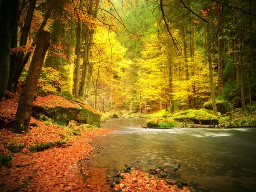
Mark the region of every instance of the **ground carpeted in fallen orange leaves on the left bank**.
<instances>
[{"instance_id":1,"label":"ground carpeted in fallen orange leaves on the left bank","mask_svg":"<svg viewBox=\"0 0 256 192\"><path fill-rule=\"evenodd\" d=\"M18 98L17 93L3 98L2 123L15 117ZM31 123L25 134L0 125L0 191L105 191L107 186L93 180L95 174L88 173L92 179L84 183L81 172L84 160L95 155L97 146L92 139L111 130L86 125L61 127L33 117ZM98 172L99 177L102 170Z\"/></svg>"}]
</instances>

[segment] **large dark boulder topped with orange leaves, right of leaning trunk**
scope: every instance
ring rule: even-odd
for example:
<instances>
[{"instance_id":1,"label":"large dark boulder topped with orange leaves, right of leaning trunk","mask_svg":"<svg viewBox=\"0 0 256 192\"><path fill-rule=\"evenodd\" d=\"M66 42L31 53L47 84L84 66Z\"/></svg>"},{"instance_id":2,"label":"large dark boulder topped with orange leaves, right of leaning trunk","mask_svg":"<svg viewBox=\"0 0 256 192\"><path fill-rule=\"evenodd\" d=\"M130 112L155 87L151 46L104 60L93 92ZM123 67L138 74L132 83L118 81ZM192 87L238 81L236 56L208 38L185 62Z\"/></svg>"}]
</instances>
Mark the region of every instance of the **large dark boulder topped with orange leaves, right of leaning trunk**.
<instances>
[{"instance_id":1,"label":"large dark boulder topped with orange leaves, right of leaning trunk","mask_svg":"<svg viewBox=\"0 0 256 192\"><path fill-rule=\"evenodd\" d=\"M46 116L60 125L68 125L70 120L75 120L81 111L79 105L61 98L60 96L38 96L32 106L32 116L46 120Z\"/></svg>"}]
</instances>

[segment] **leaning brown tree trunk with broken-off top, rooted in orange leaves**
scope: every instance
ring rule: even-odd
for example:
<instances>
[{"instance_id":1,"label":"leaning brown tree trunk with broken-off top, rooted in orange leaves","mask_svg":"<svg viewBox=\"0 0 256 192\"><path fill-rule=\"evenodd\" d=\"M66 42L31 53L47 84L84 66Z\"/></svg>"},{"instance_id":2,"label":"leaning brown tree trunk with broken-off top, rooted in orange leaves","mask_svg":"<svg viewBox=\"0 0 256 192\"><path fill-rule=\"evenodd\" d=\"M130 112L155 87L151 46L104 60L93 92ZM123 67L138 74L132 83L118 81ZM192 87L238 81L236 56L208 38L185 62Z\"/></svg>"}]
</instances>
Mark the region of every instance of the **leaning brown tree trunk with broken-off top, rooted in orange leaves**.
<instances>
[{"instance_id":1,"label":"leaning brown tree trunk with broken-off top, rooted in orange leaves","mask_svg":"<svg viewBox=\"0 0 256 192\"><path fill-rule=\"evenodd\" d=\"M34 94L38 79L44 63L44 57L50 45L50 33L42 31L38 38L38 44L29 66L29 72L26 76L23 91L20 95L19 105L15 116L15 122L12 131L15 133L24 133L29 130L30 115Z\"/></svg>"}]
</instances>

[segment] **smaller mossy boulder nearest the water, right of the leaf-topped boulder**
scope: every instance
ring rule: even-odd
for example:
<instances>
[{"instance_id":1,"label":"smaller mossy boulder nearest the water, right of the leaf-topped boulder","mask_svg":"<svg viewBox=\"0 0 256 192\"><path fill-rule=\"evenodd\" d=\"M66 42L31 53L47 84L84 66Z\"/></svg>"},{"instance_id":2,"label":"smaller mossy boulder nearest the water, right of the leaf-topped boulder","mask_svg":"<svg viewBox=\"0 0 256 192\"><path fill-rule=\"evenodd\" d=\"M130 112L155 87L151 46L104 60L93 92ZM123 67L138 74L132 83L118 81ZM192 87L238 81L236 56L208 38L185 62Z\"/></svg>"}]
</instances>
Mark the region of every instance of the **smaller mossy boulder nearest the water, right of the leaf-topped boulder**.
<instances>
[{"instance_id":1,"label":"smaller mossy boulder nearest the water, right of the leaf-topped boulder","mask_svg":"<svg viewBox=\"0 0 256 192\"><path fill-rule=\"evenodd\" d=\"M94 108L90 107L84 102L81 102L78 99L72 100L74 103L78 104L81 107L81 111L79 112L76 120L81 123L87 123L90 125L97 125L99 127L101 121L101 114Z\"/></svg>"}]
</instances>

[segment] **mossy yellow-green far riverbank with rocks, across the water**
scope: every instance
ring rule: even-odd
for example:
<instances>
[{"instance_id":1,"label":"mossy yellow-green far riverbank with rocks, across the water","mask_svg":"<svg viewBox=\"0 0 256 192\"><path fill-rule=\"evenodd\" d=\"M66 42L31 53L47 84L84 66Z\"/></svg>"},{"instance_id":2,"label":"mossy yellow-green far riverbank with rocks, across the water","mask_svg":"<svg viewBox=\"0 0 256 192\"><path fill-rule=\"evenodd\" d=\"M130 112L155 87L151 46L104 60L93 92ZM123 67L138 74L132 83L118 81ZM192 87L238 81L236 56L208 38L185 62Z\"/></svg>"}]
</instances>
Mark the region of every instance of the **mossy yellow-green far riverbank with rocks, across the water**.
<instances>
[{"instance_id":1,"label":"mossy yellow-green far riverbank with rocks, across the water","mask_svg":"<svg viewBox=\"0 0 256 192\"><path fill-rule=\"evenodd\" d=\"M194 124L202 125L220 125L225 126L251 126L256 125L256 106L253 106L253 113L250 111L243 112L241 108L230 110L230 112L218 116L214 116L211 110L207 109L188 109L170 113L169 111L156 111L154 113L134 113L133 111L109 111L106 113L109 117L121 118L145 118L149 121L155 122L169 121L169 122L194 122ZM141 127L147 127L146 124ZM165 126L164 126L165 127ZM169 127L169 126L166 126Z\"/></svg>"}]
</instances>

